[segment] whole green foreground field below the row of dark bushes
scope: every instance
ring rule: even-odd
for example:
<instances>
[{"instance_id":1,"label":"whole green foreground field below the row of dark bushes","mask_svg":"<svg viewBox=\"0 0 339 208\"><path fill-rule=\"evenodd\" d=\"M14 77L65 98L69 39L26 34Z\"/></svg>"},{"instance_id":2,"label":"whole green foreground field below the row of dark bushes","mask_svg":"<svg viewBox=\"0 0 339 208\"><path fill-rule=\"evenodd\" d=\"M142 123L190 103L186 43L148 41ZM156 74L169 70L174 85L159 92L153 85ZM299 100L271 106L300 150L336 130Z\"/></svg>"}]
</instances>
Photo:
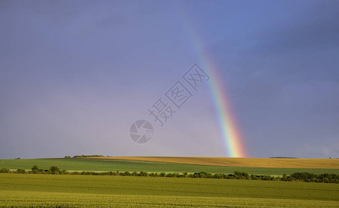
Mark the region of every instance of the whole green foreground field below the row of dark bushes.
<instances>
[{"instance_id":1,"label":"whole green foreground field below the row of dark bushes","mask_svg":"<svg viewBox=\"0 0 339 208\"><path fill-rule=\"evenodd\" d=\"M338 207L339 184L0 174L0 207Z\"/></svg>"}]
</instances>

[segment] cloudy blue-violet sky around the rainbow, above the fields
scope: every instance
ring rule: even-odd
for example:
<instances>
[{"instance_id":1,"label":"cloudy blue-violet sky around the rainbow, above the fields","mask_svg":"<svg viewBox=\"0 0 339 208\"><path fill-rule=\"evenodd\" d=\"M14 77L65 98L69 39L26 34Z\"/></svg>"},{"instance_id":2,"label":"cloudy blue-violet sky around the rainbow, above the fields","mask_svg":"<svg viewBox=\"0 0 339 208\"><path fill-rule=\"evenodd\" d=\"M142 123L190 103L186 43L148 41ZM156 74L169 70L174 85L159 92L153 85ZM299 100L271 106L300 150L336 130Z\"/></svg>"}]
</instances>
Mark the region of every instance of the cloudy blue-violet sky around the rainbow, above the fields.
<instances>
[{"instance_id":1,"label":"cloudy blue-violet sky around the rainbow, above the fields","mask_svg":"<svg viewBox=\"0 0 339 208\"><path fill-rule=\"evenodd\" d=\"M147 111L198 42L247 157L339 157L338 22L331 0L0 1L0 158L227 157L208 83L163 127Z\"/></svg>"}]
</instances>

